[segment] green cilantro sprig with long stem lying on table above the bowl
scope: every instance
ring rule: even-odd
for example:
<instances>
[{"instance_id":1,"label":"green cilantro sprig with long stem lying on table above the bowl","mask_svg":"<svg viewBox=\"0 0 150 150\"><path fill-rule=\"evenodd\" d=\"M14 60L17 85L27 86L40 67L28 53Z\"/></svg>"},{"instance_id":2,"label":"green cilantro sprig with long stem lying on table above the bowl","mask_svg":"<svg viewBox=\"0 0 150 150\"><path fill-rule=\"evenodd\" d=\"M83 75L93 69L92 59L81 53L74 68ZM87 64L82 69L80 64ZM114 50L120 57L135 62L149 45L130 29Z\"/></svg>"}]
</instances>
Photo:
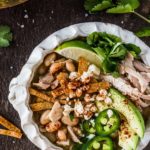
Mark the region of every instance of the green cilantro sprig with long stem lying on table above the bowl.
<instances>
[{"instance_id":1,"label":"green cilantro sprig with long stem lying on table above the bowl","mask_svg":"<svg viewBox=\"0 0 150 150\"><path fill-rule=\"evenodd\" d=\"M140 6L139 0L85 0L84 7L90 13L106 10L111 14L134 13L141 19L150 23L150 19L135 11Z\"/></svg>"}]
</instances>

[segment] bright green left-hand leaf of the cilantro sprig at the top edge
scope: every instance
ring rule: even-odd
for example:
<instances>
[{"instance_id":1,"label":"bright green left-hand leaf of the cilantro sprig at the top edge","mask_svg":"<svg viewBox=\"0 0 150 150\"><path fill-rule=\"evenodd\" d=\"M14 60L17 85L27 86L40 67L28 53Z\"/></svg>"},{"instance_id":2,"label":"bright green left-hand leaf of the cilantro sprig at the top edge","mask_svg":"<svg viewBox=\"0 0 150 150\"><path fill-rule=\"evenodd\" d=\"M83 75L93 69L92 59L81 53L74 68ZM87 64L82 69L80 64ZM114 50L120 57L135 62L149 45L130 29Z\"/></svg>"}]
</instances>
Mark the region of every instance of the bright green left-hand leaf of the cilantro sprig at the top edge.
<instances>
[{"instance_id":1,"label":"bright green left-hand leaf of the cilantro sprig at the top edge","mask_svg":"<svg viewBox=\"0 0 150 150\"><path fill-rule=\"evenodd\" d=\"M104 10L106 8L109 8L112 6L112 1L111 0L104 0L101 3L95 5L92 9L91 12L95 12L95 11L101 11Z\"/></svg>"}]
</instances>

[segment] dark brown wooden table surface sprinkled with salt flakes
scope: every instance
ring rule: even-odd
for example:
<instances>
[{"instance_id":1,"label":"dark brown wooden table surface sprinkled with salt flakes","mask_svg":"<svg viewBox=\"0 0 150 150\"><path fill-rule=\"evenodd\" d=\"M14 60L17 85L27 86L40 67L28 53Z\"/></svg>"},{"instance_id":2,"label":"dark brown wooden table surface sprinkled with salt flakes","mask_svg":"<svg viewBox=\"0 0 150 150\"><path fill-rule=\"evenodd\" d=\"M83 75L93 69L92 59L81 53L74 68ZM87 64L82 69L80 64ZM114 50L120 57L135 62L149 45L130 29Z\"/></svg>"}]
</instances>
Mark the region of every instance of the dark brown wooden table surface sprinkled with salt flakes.
<instances>
[{"instance_id":1,"label":"dark brown wooden table surface sprinkled with salt flakes","mask_svg":"<svg viewBox=\"0 0 150 150\"><path fill-rule=\"evenodd\" d=\"M150 0L144 0L138 9L147 16L150 14ZM18 127L20 119L8 102L8 86L16 76L33 48L54 31L75 23L102 21L117 24L136 31L146 22L133 14L109 15L101 12L89 15L84 11L83 0L29 0L14 8L0 10L0 24L8 24L14 40L9 48L0 49L0 114ZM150 38L143 39L150 46ZM24 135L21 140L0 136L0 150L37 150ZM145 149L149 150L150 145Z\"/></svg>"}]
</instances>

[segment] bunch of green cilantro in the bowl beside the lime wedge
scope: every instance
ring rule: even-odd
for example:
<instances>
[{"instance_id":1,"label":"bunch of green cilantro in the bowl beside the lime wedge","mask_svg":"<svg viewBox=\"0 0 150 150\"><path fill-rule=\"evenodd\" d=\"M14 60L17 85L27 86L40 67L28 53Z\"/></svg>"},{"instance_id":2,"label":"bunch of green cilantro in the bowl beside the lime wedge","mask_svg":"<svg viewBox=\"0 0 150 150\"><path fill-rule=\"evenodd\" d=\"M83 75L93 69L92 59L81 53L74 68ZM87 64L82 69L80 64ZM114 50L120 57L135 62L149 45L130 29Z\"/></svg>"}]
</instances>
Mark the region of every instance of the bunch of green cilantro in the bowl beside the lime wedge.
<instances>
[{"instance_id":1,"label":"bunch of green cilantro in the bowl beside the lime wedge","mask_svg":"<svg viewBox=\"0 0 150 150\"><path fill-rule=\"evenodd\" d=\"M127 52L131 52L134 57L138 57L141 52L138 46L125 44L119 37L105 32L93 32L86 41L100 58L103 72L114 76L118 76L118 63L125 58Z\"/></svg>"}]
</instances>

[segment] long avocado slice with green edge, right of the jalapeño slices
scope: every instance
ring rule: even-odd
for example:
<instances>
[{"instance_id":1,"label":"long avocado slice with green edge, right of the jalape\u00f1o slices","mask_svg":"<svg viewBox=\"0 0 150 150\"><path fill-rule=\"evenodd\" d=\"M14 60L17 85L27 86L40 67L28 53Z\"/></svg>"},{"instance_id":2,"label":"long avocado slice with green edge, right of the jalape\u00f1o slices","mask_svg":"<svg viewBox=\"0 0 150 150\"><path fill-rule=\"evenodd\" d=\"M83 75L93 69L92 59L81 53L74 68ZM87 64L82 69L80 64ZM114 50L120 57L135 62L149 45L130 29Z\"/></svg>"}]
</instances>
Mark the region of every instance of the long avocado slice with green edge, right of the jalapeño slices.
<instances>
[{"instance_id":1,"label":"long avocado slice with green edge, right of the jalape\u00f1o slices","mask_svg":"<svg viewBox=\"0 0 150 150\"><path fill-rule=\"evenodd\" d=\"M125 116L133 131L137 133L140 138L142 138L145 132L145 125L143 117L138 108L136 108L134 104L118 90L111 88L109 92L113 100L113 108Z\"/></svg>"}]
</instances>

